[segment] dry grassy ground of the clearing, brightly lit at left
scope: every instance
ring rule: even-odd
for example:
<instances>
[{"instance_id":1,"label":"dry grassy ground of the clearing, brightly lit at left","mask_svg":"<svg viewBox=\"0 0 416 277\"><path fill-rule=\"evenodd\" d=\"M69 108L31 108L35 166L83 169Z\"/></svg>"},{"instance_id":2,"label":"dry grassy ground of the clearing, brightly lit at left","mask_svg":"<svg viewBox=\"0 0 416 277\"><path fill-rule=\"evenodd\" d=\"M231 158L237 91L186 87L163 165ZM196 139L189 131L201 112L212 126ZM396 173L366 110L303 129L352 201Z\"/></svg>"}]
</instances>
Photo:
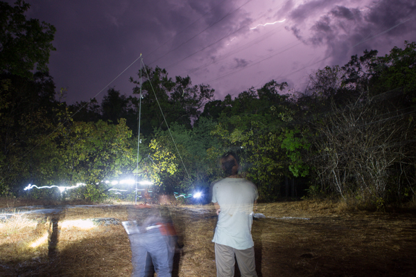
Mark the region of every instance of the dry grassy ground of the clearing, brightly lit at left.
<instances>
[{"instance_id":1,"label":"dry grassy ground of the clearing, brightly lit at left","mask_svg":"<svg viewBox=\"0 0 416 277\"><path fill-rule=\"evenodd\" d=\"M9 211L11 205L24 206L2 204ZM175 255L173 276L216 276L214 207L168 207L184 244ZM0 276L130 276L123 226L86 220L127 220L126 208L16 214L0 223ZM339 204L309 200L259 204L257 213L268 217L252 226L259 276L416 276L416 215L409 210L348 212Z\"/></svg>"}]
</instances>

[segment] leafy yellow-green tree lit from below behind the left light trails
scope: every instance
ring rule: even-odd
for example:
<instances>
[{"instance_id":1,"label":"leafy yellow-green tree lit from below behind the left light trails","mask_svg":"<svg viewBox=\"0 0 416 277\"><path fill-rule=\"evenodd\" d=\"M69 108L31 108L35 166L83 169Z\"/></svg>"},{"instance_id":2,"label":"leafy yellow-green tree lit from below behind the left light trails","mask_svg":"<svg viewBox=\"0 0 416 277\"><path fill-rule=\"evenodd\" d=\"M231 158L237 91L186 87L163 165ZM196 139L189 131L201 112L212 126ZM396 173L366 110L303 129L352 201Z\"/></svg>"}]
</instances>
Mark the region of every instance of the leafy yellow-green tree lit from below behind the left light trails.
<instances>
[{"instance_id":1,"label":"leafy yellow-green tree lit from below behind the left light trails","mask_svg":"<svg viewBox=\"0 0 416 277\"><path fill-rule=\"evenodd\" d=\"M98 201L107 197L111 184L107 179L132 175L135 168L135 150L131 148L131 131L125 120L117 125L98 122L73 122L53 133L55 139L45 147L36 148L41 163L32 170L31 184L75 186L68 197ZM31 192L33 193L33 192Z\"/></svg>"}]
</instances>

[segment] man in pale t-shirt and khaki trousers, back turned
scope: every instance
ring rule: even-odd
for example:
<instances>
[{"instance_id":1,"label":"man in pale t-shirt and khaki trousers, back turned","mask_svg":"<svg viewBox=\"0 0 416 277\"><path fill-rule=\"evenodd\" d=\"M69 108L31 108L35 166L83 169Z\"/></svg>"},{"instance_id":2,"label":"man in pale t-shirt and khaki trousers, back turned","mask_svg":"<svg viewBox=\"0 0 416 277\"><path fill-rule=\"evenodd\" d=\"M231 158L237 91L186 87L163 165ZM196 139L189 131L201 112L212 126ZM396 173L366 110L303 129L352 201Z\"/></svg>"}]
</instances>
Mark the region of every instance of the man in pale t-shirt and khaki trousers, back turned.
<instances>
[{"instance_id":1,"label":"man in pale t-shirt and khaki trousers, back turned","mask_svg":"<svg viewBox=\"0 0 416 277\"><path fill-rule=\"evenodd\" d=\"M257 188L238 175L239 158L228 152L220 159L227 178L212 188L212 202L218 215L215 229L215 261L218 277L234 276L234 256L241 276L257 276L251 235L253 205Z\"/></svg>"}]
</instances>

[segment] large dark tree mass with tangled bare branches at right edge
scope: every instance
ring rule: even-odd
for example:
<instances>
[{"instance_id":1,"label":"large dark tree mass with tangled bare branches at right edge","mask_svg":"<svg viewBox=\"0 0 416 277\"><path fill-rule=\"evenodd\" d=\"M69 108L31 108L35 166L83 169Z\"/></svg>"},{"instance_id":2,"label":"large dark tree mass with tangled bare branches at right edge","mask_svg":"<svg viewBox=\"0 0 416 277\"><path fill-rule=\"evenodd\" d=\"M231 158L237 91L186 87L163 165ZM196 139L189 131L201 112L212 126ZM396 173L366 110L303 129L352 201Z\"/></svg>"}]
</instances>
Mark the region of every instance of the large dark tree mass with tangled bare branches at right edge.
<instances>
[{"instance_id":1,"label":"large dark tree mass with tangled bare branches at right edge","mask_svg":"<svg viewBox=\"0 0 416 277\"><path fill-rule=\"evenodd\" d=\"M300 122L299 146L308 153L302 165L316 181L310 192L377 208L414 194L415 48L406 42L384 57L365 51L311 75L297 98L307 118Z\"/></svg>"}]
</instances>

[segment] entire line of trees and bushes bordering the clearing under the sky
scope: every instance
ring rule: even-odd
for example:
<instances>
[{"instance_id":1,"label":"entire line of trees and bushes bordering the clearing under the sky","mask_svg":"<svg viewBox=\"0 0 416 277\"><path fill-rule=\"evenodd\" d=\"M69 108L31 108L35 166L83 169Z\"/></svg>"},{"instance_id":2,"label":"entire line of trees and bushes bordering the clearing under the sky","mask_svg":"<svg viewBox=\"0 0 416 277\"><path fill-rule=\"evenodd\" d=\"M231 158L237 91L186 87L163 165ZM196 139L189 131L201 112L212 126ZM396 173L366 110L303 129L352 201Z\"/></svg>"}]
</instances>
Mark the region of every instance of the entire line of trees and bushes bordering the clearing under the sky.
<instances>
[{"instance_id":1,"label":"entire line of trees and bushes bordering the clearing under the sky","mask_svg":"<svg viewBox=\"0 0 416 277\"><path fill-rule=\"evenodd\" d=\"M105 181L129 176L151 179L157 193L207 193L232 150L265 201L383 208L415 197L415 42L319 69L304 91L271 80L216 100L208 84L146 66L130 78L132 96L110 88L101 103L69 105L46 66L55 28L26 19L24 1L0 6L0 195L100 201L121 188Z\"/></svg>"}]
</instances>

